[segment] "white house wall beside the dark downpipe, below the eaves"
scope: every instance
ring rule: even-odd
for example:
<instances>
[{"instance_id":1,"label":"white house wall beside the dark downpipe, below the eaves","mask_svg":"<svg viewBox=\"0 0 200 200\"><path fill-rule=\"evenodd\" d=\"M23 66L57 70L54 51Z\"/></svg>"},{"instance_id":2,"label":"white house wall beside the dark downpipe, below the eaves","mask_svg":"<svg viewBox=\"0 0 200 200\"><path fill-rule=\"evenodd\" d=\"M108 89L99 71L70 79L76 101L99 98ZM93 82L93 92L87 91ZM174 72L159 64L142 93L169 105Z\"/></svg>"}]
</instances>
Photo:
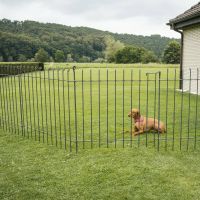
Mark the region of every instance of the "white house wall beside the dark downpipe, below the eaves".
<instances>
[{"instance_id":1,"label":"white house wall beside the dark downpipe, below the eaves","mask_svg":"<svg viewBox=\"0 0 200 200\"><path fill-rule=\"evenodd\" d=\"M183 90L197 94L198 88L200 94L200 80L197 82L197 68L200 79L200 24L184 29L183 34Z\"/></svg>"}]
</instances>

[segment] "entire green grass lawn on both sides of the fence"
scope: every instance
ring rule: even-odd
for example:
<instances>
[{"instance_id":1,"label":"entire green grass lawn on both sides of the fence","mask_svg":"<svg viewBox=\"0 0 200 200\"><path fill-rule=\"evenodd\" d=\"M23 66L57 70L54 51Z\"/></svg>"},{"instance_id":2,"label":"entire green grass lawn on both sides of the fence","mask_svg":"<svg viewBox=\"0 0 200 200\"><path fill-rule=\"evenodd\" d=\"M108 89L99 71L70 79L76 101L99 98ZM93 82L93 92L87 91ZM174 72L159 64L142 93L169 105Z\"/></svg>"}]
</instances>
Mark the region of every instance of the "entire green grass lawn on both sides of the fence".
<instances>
[{"instance_id":1,"label":"entire green grass lawn on both sides of the fence","mask_svg":"<svg viewBox=\"0 0 200 200\"><path fill-rule=\"evenodd\" d=\"M76 87L50 69L73 65L0 79L0 199L200 199L200 98L177 91L177 66L76 64ZM167 133L126 133L131 107Z\"/></svg>"}]
</instances>

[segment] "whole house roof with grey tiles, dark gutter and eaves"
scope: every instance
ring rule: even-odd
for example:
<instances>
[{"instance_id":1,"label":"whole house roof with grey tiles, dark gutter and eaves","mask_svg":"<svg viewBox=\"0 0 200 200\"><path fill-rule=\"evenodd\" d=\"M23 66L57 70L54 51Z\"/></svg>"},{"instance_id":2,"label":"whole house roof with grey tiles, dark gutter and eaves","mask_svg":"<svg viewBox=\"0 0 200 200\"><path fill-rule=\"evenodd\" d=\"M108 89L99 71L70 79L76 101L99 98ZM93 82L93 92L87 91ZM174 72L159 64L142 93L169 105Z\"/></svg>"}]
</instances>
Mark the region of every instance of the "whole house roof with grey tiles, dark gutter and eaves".
<instances>
[{"instance_id":1,"label":"whole house roof with grey tiles, dark gutter and eaves","mask_svg":"<svg viewBox=\"0 0 200 200\"><path fill-rule=\"evenodd\" d=\"M183 28L196 23L200 23L200 2L186 10L184 13L169 20L168 25L175 28Z\"/></svg>"}]
</instances>

